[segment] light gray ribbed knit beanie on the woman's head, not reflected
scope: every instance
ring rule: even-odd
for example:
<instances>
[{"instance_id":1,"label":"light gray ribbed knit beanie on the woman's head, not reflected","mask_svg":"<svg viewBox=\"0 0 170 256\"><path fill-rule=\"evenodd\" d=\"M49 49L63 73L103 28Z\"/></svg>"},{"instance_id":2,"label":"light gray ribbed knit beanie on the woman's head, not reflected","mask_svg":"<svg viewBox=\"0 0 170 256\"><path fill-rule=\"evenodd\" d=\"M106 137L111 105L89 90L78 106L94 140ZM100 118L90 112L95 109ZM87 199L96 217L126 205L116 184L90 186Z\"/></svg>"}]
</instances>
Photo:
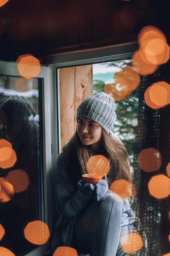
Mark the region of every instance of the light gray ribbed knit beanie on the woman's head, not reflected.
<instances>
[{"instance_id":1,"label":"light gray ribbed knit beanie on the woman's head, not reflected","mask_svg":"<svg viewBox=\"0 0 170 256\"><path fill-rule=\"evenodd\" d=\"M88 117L109 133L116 120L115 110L116 105L113 97L104 92L99 92L82 101L77 109L76 120L78 121L79 117Z\"/></svg>"}]
</instances>

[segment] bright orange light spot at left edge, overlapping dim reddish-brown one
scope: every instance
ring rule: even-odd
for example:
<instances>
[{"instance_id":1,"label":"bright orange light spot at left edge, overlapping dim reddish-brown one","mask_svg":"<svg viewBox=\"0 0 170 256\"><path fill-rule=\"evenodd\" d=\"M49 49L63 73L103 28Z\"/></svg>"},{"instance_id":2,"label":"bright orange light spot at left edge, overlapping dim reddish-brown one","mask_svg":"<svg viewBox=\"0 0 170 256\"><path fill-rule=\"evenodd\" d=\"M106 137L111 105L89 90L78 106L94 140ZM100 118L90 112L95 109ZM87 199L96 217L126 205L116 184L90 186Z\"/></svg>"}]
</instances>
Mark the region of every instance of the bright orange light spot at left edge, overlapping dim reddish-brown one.
<instances>
[{"instance_id":1,"label":"bright orange light spot at left edge, overlapping dim reddish-brown one","mask_svg":"<svg viewBox=\"0 0 170 256\"><path fill-rule=\"evenodd\" d=\"M7 202L13 197L13 186L7 178L0 177L0 202Z\"/></svg>"}]
</instances>

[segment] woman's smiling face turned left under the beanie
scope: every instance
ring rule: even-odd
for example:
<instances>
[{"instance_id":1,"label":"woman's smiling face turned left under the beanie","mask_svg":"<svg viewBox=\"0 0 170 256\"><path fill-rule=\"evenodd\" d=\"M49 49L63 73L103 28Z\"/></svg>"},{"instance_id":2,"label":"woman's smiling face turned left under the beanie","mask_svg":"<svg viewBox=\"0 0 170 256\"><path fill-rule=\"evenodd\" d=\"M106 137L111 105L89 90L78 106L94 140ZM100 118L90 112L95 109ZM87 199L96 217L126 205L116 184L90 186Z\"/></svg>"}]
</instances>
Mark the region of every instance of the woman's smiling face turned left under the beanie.
<instances>
[{"instance_id":1,"label":"woman's smiling face turned left under the beanie","mask_svg":"<svg viewBox=\"0 0 170 256\"><path fill-rule=\"evenodd\" d=\"M102 139L102 127L87 117L79 117L77 123L77 133L83 145L91 146L94 152L100 149Z\"/></svg>"}]
</instances>

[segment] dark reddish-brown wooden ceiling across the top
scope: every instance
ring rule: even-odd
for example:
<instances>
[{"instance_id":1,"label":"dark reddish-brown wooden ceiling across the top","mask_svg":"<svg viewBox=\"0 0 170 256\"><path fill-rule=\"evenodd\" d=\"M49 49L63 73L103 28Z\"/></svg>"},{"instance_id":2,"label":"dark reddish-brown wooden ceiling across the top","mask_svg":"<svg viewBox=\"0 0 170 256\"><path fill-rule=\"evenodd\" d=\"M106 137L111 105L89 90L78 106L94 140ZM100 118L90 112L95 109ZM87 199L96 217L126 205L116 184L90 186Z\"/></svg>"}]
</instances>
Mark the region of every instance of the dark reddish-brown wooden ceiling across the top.
<instances>
[{"instance_id":1,"label":"dark reddish-brown wooden ceiling across the top","mask_svg":"<svg viewBox=\"0 0 170 256\"><path fill-rule=\"evenodd\" d=\"M0 7L0 60L131 42L146 25L169 37L169 20L166 0L9 0Z\"/></svg>"}]
</instances>

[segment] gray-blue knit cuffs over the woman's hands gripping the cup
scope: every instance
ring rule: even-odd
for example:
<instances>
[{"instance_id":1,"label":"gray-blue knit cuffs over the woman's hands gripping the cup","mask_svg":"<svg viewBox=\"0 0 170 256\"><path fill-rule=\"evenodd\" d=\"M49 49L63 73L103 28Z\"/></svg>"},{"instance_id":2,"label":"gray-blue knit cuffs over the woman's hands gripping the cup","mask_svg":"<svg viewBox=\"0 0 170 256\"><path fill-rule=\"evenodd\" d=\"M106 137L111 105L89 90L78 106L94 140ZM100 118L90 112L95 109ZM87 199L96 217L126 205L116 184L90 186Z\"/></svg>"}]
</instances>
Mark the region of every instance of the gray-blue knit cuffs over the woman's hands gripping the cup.
<instances>
[{"instance_id":1,"label":"gray-blue knit cuffs over the woman's hands gripping the cup","mask_svg":"<svg viewBox=\"0 0 170 256\"><path fill-rule=\"evenodd\" d=\"M77 183L79 192L86 198L93 199L94 201L100 201L104 195L109 193L108 184L106 180L100 180L94 186L90 183L82 183L82 180L79 180Z\"/></svg>"}]
</instances>

